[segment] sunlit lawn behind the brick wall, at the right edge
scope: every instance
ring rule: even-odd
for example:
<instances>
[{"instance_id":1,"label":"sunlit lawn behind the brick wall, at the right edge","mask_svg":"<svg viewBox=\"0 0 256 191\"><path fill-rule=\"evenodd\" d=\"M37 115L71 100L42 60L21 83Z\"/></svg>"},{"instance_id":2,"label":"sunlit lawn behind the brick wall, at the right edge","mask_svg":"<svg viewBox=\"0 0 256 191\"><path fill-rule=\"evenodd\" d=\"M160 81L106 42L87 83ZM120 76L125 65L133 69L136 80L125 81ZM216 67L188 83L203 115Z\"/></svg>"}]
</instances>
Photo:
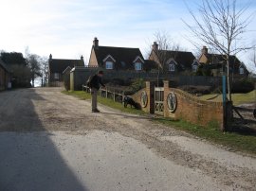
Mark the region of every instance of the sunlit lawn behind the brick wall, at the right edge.
<instances>
[{"instance_id":1,"label":"sunlit lawn behind the brick wall, at the right edge","mask_svg":"<svg viewBox=\"0 0 256 191\"><path fill-rule=\"evenodd\" d=\"M200 96L202 100L207 100L211 97L214 97L216 95L205 95L205 96ZM234 105L240 105L243 103L249 103L249 102L256 102L256 90L251 91L250 93L247 94L232 94L232 100ZM222 95L219 95L210 101L222 101Z\"/></svg>"}]
</instances>

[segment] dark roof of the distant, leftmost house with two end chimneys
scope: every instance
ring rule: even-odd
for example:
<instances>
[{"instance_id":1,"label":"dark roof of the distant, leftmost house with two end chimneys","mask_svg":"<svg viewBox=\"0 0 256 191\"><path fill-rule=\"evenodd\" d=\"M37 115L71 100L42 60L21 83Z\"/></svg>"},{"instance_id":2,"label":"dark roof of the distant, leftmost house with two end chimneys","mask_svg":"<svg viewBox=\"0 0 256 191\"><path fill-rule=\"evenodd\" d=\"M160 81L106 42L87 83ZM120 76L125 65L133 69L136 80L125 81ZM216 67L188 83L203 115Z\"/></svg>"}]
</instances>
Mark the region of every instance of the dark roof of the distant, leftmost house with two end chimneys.
<instances>
[{"instance_id":1,"label":"dark roof of the distant, leftmost house with two end chimneys","mask_svg":"<svg viewBox=\"0 0 256 191\"><path fill-rule=\"evenodd\" d=\"M73 68L74 66L84 66L84 61L64 59L49 60L49 70L51 73L63 73L68 66L70 68Z\"/></svg>"}]
</instances>

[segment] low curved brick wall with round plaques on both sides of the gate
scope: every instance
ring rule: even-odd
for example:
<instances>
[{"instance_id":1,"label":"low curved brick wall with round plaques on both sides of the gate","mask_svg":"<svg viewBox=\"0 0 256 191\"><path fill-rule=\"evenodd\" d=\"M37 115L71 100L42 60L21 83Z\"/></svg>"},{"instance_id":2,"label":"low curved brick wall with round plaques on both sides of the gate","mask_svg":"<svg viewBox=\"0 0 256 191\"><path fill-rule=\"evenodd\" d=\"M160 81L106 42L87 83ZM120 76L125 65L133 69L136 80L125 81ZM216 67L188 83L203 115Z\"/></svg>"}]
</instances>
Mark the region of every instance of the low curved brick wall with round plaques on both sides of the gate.
<instances>
[{"instance_id":1,"label":"low curved brick wall with round plaques on both sides of the gate","mask_svg":"<svg viewBox=\"0 0 256 191\"><path fill-rule=\"evenodd\" d=\"M147 105L142 106L141 96L142 93L147 94ZM176 108L173 112L168 107L168 96L173 92L176 98ZM142 110L146 113L155 113L155 84L149 81L146 82L146 88L138 91L132 98L140 104ZM223 104L222 102L204 101L200 100L196 96L192 96L182 90L170 88L169 81L164 81L164 113L165 117L173 119L183 119L206 127L210 123L217 123L220 130L224 130L224 117L223 117ZM228 103L228 110L232 107L231 103ZM231 117L231 113L227 113L227 120Z\"/></svg>"}]
</instances>

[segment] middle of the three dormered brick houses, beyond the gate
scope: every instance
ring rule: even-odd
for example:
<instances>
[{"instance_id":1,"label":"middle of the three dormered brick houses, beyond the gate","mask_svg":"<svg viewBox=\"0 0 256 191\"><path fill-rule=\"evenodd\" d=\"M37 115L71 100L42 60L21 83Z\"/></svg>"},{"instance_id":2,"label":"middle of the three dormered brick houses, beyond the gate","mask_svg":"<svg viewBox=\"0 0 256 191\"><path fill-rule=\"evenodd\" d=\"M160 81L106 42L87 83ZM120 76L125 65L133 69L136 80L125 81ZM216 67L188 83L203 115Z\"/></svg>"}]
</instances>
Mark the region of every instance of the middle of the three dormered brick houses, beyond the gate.
<instances>
[{"instance_id":1,"label":"middle of the three dormered brick houses, beyond the gate","mask_svg":"<svg viewBox=\"0 0 256 191\"><path fill-rule=\"evenodd\" d=\"M192 52L161 50L156 42L152 45L149 60L155 61L156 68L161 68L163 72L170 74L196 71L199 65Z\"/></svg>"}]
</instances>

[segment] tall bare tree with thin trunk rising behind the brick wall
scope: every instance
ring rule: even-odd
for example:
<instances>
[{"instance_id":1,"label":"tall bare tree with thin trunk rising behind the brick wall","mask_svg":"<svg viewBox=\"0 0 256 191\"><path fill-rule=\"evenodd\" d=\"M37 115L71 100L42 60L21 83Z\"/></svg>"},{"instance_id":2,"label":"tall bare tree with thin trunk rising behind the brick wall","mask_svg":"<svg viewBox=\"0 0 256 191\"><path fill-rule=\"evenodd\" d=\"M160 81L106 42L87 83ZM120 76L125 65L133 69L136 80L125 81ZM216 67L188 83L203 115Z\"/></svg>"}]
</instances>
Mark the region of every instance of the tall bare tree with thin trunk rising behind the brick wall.
<instances>
[{"instance_id":1,"label":"tall bare tree with thin trunk rising behind the brick wall","mask_svg":"<svg viewBox=\"0 0 256 191\"><path fill-rule=\"evenodd\" d=\"M231 101L229 59L231 55L247 50L242 43L243 34L251 21L252 14L246 14L248 4L239 7L237 0L202 0L199 16L189 9L194 26L183 21L200 43L207 43L210 48L224 55L227 64L228 94ZM192 42L196 45L198 43Z\"/></svg>"}]
</instances>

